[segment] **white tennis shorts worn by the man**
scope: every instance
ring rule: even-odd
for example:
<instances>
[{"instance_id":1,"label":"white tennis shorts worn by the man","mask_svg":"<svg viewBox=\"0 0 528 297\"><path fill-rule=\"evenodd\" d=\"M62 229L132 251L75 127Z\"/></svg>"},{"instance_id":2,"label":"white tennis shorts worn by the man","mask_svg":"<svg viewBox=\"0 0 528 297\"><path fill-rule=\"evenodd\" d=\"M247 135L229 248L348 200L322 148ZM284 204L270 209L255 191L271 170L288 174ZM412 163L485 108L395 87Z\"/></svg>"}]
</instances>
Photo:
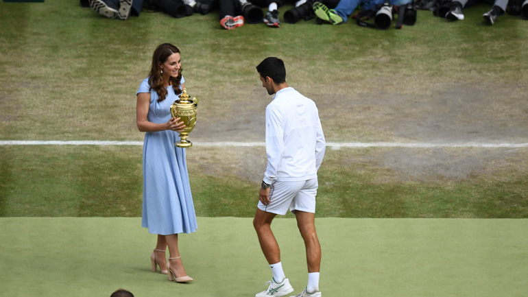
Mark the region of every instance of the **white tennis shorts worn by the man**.
<instances>
[{"instance_id":1,"label":"white tennis shorts worn by the man","mask_svg":"<svg viewBox=\"0 0 528 297\"><path fill-rule=\"evenodd\" d=\"M269 204L259 201L261 211L285 215L288 211L305 211L315 213L315 196L317 195L317 178L301 182L275 181L269 189Z\"/></svg>"}]
</instances>

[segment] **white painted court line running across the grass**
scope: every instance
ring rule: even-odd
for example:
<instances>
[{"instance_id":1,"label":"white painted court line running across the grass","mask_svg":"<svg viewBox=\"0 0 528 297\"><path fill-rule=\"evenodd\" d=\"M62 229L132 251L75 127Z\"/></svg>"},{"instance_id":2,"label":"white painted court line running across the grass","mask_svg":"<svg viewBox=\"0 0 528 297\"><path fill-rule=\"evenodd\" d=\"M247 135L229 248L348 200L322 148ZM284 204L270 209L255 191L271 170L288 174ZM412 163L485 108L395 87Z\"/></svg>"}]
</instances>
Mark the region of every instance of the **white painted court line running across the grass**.
<instances>
[{"instance_id":1,"label":"white painted court line running across the grass","mask_svg":"<svg viewBox=\"0 0 528 297\"><path fill-rule=\"evenodd\" d=\"M195 145L202 147L263 147L263 142L200 142ZM143 141L0 141L0 145L143 145ZM341 147L482 147L482 148L516 148L528 147L528 143L403 143L403 142L372 142L372 143L326 143L327 147L338 150Z\"/></svg>"}]
</instances>

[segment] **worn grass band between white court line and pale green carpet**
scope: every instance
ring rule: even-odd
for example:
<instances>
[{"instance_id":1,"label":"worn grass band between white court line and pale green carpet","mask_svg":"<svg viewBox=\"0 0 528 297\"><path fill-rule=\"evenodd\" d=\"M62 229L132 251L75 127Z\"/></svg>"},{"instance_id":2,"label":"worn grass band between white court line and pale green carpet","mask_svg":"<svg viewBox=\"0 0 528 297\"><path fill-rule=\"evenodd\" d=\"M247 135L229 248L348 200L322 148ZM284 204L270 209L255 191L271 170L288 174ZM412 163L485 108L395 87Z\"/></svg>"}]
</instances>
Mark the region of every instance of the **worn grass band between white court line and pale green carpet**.
<instances>
[{"instance_id":1,"label":"worn grass band between white court line and pale green carpet","mask_svg":"<svg viewBox=\"0 0 528 297\"><path fill-rule=\"evenodd\" d=\"M141 150L0 146L0 217L140 217ZM528 217L528 150L494 151L498 161L493 162L472 156L485 150L433 151L449 160L442 166L463 171L460 176L393 169L383 160L398 150L328 150L318 174L317 216ZM413 159L429 158L428 150L407 151ZM464 168L468 158L485 170ZM439 161L427 162L424 168L439 166ZM254 215L266 164L263 148L197 145L187 152L187 163L197 215Z\"/></svg>"}]
</instances>

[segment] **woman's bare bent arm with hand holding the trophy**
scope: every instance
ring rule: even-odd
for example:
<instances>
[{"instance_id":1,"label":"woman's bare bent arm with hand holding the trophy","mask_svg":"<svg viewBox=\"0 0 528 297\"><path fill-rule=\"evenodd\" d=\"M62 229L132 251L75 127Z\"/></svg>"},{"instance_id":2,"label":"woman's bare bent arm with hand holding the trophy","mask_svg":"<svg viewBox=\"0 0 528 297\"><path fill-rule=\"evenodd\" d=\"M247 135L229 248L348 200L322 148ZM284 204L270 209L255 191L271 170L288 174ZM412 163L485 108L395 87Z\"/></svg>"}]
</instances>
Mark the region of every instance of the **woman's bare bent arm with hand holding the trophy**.
<instances>
[{"instance_id":1,"label":"woman's bare bent arm with hand holding the trophy","mask_svg":"<svg viewBox=\"0 0 528 297\"><path fill-rule=\"evenodd\" d=\"M179 117L173 117L167 121L167 123L152 123L148 121L147 115L149 114L150 106L150 94L139 93L138 101L136 105L136 124L141 132L158 132L164 130L173 130L181 132L185 125L183 122L179 122Z\"/></svg>"}]
</instances>

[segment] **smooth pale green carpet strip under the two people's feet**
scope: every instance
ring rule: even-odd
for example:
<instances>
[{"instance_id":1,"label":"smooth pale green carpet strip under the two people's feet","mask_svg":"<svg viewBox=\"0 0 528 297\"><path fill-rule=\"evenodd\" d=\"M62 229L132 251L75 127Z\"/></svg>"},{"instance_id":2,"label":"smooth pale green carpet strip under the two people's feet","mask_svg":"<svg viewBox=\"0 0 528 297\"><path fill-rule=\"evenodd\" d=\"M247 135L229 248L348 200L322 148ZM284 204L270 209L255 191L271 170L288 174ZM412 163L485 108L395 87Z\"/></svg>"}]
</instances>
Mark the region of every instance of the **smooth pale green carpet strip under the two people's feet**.
<instances>
[{"instance_id":1,"label":"smooth pale green carpet strip under the two people's feet","mask_svg":"<svg viewBox=\"0 0 528 297\"><path fill-rule=\"evenodd\" d=\"M199 217L180 236L195 282L150 272L139 218L0 219L0 296L254 296L271 278L251 218ZM324 296L525 297L528 219L317 219ZM293 219L273 226L296 292L307 283Z\"/></svg>"}]
</instances>

